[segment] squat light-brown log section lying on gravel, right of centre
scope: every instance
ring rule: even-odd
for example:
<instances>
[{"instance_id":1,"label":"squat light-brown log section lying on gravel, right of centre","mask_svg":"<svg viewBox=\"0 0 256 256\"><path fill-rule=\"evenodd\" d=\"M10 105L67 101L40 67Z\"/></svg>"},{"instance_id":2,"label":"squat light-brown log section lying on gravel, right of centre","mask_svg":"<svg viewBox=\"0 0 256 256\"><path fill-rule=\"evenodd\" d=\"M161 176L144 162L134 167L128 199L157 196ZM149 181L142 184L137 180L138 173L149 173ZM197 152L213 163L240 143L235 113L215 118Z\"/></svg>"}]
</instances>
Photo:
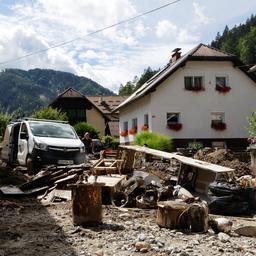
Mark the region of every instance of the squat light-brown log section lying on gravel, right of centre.
<instances>
[{"instance_id":1,"label":"squat light-brown log section lying on gravel, right of centre","mask_svg":"<svg viewBox=\"0 0 256 256\"><path fill-rule=\"evenodd\" d=\"M185 213L189 204L176 201L162 201L157 204L156 223L160 227L170 229L189 228Z\"/></svg>"}]
</instances>

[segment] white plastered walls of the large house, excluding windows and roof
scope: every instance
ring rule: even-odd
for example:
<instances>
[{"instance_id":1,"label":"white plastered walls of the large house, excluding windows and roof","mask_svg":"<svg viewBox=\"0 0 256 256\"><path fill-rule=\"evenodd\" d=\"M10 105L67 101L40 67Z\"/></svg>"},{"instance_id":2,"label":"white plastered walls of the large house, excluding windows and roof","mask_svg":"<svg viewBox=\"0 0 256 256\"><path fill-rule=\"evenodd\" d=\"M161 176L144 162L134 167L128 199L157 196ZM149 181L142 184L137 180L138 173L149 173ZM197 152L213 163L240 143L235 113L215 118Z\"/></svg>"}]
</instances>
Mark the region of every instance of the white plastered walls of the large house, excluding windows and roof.
<instances>
[{"instance_id":1,"label":"white plastered walls of the large house, excluding windows and roof","mask_svg":"<svg viewBox=\"0 0 256 256\"><path fill-rule=\"evenodd\" d=\"M204 77L205 90L199 92L184 89L184 76ZM226 94L215 89L215 76L227 75L231 91ZM149 113L150 130L173 138L246 138L247 117L256 110L256 84L231 62L190 61L166 79L156 91L135 101L120 111L123 121L139 118ZM166 127L166 113L180 112L183 128L173 131ZM225 112L227 129L211 128L211 113ZM126 141L132 137L126 138ZM124 142L121 138L121 142Z\"/></svg>"}]
</instances>

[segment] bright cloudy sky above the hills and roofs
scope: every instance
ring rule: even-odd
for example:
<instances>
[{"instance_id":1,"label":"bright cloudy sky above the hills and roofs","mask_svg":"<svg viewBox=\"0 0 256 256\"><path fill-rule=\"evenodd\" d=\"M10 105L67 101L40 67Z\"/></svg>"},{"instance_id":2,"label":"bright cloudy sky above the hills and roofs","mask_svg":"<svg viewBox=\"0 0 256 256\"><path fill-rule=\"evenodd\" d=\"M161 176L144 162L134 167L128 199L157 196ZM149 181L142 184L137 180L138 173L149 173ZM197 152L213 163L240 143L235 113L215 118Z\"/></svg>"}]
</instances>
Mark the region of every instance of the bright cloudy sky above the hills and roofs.
<instances>
[{"instance_id":1,"label":"bright cloudy sky above the hills and roofs","mask_svg":"<svg viewBox=\"0 0 256 256\"><path fill-rule=\"evenodd\" d=\"M173 49L186 53L209 44L226 25L232 28L256 14L254 0L172 2L0 0L0 70L67 71L118 92L147 67L164 67ZM96 32L167 3L172 4Z\"/></svg>"}]
</instances>

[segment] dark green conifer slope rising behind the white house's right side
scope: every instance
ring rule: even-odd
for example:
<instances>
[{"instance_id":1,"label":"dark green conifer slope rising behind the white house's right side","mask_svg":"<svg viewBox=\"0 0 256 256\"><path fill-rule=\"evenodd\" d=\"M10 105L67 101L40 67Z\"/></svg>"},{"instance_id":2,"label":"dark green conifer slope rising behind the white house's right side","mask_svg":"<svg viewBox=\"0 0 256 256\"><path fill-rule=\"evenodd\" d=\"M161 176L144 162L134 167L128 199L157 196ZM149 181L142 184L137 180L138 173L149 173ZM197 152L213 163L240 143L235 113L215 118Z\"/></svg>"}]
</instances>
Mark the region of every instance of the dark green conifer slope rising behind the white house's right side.
<instances>
[{"instance_id":1,"label":"dark green conifer slope rising behind the white house's right side","mask_svg":"<svg viewBox=\"0 0 256 256\"><path fill-rule=\"evenodd\" d=\"M217 34L212 47L238 56L246 64L256 64L256 16L252 15L244 24Z\"/></svg>"}]
</instances>

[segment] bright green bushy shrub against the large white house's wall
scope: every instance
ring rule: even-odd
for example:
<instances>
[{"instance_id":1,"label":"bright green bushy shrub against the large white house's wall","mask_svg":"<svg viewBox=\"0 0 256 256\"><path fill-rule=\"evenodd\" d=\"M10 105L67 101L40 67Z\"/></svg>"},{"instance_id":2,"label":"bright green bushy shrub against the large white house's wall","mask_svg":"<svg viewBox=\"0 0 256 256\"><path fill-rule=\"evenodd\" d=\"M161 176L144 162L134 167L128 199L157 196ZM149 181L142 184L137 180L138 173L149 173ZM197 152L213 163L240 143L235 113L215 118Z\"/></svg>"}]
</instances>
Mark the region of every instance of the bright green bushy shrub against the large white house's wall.
<instances>
[{"instance_id":1,"label":"bright green bushy shrub against the large white house's wall","mask_svg":"<svg viewBox=\"0 0 256 256\"><path fill-rule=\"evenodd\" d=\"M140 132L134 139L133 144L144 146L149 148L171 152L172 139L168 136L164 136L153 132Z\"/></svg>"}]
</instances>

